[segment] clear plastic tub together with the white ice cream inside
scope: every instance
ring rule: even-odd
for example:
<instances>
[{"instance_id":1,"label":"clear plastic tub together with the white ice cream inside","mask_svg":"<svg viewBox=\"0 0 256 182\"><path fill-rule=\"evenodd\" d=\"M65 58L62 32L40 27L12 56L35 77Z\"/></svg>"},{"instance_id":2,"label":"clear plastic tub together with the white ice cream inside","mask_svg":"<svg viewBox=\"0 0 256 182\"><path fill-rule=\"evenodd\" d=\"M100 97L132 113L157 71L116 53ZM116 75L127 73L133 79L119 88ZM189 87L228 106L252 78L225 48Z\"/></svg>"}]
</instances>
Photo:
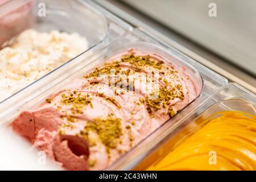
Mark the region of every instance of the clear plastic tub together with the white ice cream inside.
<instances>
[{"instance_id":1,"label":"clear plastic tub together with the white ice cream inside","mask_svg":"<svg viewBox=\"0 0 256 182\"><path fill-rule=\"evenodd\" d=\"M0 102L130 28L92 1L1 1Z\"/></svg>"}]
</instances>

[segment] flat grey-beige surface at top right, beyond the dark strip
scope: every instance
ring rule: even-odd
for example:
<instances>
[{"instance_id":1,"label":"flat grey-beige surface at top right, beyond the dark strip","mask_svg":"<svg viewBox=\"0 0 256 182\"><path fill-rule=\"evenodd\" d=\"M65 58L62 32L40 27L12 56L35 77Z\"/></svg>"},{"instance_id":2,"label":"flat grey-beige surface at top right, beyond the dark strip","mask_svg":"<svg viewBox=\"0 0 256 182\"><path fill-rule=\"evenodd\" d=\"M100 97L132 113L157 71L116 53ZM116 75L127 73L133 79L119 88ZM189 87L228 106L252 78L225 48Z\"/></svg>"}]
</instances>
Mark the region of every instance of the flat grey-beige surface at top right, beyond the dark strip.
<instances>
[{"instance_id":1,"label":"flat grey-beige surface at top right, beyond the dark strip","mask_svg":"<svg viewBox=\"0 0 256 182\"><path fill-rule=\"evenodd\" d=\"M122 1L256 76L256 1Z\"/></svg>"}]
</instances>

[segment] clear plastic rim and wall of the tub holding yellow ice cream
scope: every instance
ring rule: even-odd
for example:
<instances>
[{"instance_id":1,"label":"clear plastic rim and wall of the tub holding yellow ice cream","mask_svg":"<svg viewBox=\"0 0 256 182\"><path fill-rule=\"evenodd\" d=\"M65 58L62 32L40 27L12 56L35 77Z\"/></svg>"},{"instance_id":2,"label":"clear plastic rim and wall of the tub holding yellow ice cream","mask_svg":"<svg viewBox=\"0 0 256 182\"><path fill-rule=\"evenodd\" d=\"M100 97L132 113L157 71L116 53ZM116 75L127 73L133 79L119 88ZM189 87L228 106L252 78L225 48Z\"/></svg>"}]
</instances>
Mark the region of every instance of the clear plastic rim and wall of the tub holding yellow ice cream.
<instances>
[{"instance_id":1,"label":"clear plastic rim and wall of the tub holding yellow ice cream","mask_svg":"<svg viewBox=\"0 0 256 182\"><path fill-rule=\"evenodd\" d=\"M157 160L164 158L177 142L193 133L205 119L220 111L243 111L256 115L256 96L240 85L228 84L199 108L180 119L175 126L163 126L156 131L154 135L159 135L161 140L157 144L152 143L154 147L150 150L146 150L147 146L142 147L137 159L119 166L118 169L146 169Z\"/></svg>"}]
</instances>

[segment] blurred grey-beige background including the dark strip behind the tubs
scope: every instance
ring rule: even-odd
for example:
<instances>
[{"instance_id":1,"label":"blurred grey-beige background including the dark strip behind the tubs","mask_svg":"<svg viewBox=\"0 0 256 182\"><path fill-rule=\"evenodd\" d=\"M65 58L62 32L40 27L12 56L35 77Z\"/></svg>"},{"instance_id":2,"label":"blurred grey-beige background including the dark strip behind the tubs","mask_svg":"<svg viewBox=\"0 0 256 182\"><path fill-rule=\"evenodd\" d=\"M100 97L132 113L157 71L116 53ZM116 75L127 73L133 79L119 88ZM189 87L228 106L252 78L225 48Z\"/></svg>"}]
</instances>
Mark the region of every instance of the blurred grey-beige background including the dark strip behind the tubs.
<instances>
[{"instance_id":1,"label":"blurred grey-beige background including the dark strip behind the tubs","mask_svg":"<svg viewBox=\"0 0 256 182\"><path fill-rule=\"evenodd\" d=\"M108 2L236 76L229 80L239 78L256 88L255 0ZM216 16L209 16L210 3L216 5Z\"/></svg>"}]
</instances>

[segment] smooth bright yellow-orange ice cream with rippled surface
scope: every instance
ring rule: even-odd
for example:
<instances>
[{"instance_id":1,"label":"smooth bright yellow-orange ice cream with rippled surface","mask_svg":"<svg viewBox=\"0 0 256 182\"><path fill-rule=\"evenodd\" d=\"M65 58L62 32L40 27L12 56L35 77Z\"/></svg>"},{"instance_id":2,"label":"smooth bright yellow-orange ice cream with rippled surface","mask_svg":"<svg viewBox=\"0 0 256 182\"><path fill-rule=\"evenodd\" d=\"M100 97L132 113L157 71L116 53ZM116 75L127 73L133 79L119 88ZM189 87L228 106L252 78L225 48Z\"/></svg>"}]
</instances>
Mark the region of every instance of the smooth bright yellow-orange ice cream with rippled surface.
<instances>
[{"instance_id":1,"label":"smooth bright yellow-orange ice cream with rippled surface","mask_svg":"<svg viewBox=\"0 0 256 182\"><path fill-rule=\"evenodd\" d=\"M255 115L222 111L214 116L147 170L256 170Z\"/></svg>"}]
</instances>

